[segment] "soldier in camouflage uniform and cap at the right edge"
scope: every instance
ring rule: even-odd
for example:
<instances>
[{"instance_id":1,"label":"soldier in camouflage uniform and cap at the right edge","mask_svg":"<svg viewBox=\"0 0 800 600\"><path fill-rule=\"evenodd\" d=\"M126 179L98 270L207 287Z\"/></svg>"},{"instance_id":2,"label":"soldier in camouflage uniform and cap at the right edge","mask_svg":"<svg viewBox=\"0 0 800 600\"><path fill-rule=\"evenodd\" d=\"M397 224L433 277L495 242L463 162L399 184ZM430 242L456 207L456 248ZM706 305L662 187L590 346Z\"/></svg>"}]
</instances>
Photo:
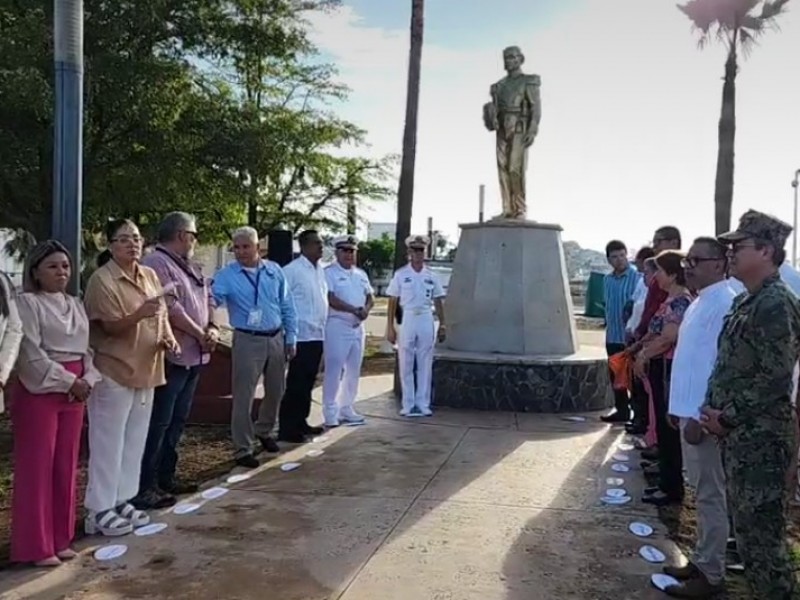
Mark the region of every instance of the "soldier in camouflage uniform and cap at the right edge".
<instances>
[{"instance_id":1,"label":"soldier in camouflage uniform and cap at the right edge","mask_svg":"<svg viewBox=\"0 0 800 600\"><path fill-rule=\"evenodd\" d=\"M778 267L792 228L754 210L720 236L731 274L747 289L719 338L703 421L719 438L736 543L754 598L793 598L786 543L786 476L796 451L792 372L800 356L800 302Z\"/></svg>"}]
</instances>

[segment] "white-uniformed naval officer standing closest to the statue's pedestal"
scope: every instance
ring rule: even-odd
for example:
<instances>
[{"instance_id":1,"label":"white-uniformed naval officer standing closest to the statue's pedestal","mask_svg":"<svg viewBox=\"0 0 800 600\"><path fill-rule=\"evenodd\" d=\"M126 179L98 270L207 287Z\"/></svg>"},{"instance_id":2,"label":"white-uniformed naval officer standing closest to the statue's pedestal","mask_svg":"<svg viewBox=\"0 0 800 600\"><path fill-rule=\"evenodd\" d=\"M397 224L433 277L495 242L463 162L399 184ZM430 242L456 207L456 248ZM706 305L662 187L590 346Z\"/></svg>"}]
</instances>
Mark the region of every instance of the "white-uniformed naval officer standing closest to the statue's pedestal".
<instances>
[{"instance_id":1,"label":"white-uniformed naval officer standing closest to the statue's pedestal","mask_svg":"<svg viewBox=\"0 0 800 600\"><path fill-rule=\"evenodd\" d=\"M424 235L406 238L408 264L398 269L386 290L389 296L386 338L397 343L400 361L400 384L403 388L404 417L429 417L431 412L431 371L433 346L438 337L444 341L444 290L428 267L425 266L425 249L430 240ZM403 324L398 335L394 325L397 303L403 309ZM433 309L439 320L438 332L433 319ZM417 363L417 381L414 386L414 361Z\"/></svg>"}]
</instances>

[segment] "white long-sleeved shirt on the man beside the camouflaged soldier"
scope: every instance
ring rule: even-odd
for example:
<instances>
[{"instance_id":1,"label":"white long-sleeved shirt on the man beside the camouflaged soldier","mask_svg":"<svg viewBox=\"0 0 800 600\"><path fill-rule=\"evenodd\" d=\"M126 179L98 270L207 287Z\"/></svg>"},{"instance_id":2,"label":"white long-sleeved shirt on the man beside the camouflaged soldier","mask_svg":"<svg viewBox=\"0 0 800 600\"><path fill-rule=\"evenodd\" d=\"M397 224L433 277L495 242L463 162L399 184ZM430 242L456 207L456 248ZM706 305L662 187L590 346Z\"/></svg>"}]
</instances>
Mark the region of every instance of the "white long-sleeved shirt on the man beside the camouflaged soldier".
<instances>
[{"instance_id":1,"label":"white long-sleeved shirt on the man beside the camouflaged soldier","mask_svg":"<svg viewBox=\"0 0 800 600\"><path fill-rule=\"evenodd\" d=\"M700 290L697 300L686 309L672 360L669 414L699 420L717 361L723 320L736 296L727 280L720 281Z\"/></svg>"}]
</instances>

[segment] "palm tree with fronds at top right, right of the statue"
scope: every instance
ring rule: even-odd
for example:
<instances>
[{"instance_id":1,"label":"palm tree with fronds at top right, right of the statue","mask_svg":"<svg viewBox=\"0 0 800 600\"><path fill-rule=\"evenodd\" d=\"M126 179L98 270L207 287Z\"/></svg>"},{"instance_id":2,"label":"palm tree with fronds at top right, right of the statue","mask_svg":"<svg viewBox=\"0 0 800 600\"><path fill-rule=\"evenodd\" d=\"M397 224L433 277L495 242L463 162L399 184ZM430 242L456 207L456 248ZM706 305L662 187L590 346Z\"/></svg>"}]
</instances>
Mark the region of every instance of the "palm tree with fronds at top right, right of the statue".
<instances>
[{"instance_id":1,"label":"palm tree with fronds at top right, right of the statue","mask_svg":"<svg viewBox=\"0 0 800 600\"><path fill-rule=\"evenodd\" d=\"M739 50L744 56L768 28L776 28L775 18L784 12L789 0L688 0L678 9L700 32L700 47L711 39L725 45L725 77L722 85L722 110L719 117L717 178L714 186L714 225L717 235L730 229L733 204L733 162L736 139L736 75Z\"/></svg>"}]
</instances>

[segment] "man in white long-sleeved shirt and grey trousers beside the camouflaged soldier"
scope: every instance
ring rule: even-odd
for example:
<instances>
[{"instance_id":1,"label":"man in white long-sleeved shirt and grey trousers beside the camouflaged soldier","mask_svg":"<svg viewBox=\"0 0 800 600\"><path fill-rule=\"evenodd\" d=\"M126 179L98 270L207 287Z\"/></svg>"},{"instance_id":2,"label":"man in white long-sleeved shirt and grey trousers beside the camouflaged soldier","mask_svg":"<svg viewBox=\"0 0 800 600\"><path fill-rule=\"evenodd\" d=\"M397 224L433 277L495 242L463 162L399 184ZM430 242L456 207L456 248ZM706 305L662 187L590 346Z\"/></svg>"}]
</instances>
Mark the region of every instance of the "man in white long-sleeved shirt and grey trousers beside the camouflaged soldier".
<instances>
[{"instance_id":1,"label":"man in white long-sleeved shirt and grey trousers beside the camouflaged soldier","mask_svg":"<svg viewBox=\"0 0 800 600\"><path fill-rule=\"evenodd\" d=\"M698 238L684 259L686 283L698 298L678 330L672 363L669 414L681 429L684 465L697 494L698 533L685 567L665 567L681 583L667 588L677 598L707 598L721 591L728 540L725 472L716 440L703 433L700 407L717 359L717 340L736 291L726 279L727 248L714 238Z\"/></svg>"}]
</instances>

